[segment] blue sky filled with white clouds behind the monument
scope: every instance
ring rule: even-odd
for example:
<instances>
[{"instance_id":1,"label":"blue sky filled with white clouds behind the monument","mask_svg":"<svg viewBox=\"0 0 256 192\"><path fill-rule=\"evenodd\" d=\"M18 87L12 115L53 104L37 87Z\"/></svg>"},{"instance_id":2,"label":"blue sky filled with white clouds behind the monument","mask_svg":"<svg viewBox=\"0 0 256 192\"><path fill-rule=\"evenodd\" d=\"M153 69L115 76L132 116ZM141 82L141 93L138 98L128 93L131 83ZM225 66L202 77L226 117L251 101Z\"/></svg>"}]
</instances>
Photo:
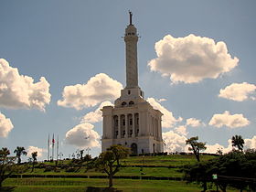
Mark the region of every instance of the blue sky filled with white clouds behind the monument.
<instances>
[{"instance_id":1,"label":"blue sky filled with white clouds behind the monument","mask_svg":"<svg viewBox=\"0 0 256 192\"><path fill-rule=\"evenodd\" d=\"M133 11L139 84L164 113L165 150L198 136L208 152L240 134L256 148L256 2L1 1L0 146L47 158L101 152L101 107L125 87L123 35ZM26 157L27 158L27 157ZM25 159L26 159L25 158Z\"/></svg>"}]
</instances>

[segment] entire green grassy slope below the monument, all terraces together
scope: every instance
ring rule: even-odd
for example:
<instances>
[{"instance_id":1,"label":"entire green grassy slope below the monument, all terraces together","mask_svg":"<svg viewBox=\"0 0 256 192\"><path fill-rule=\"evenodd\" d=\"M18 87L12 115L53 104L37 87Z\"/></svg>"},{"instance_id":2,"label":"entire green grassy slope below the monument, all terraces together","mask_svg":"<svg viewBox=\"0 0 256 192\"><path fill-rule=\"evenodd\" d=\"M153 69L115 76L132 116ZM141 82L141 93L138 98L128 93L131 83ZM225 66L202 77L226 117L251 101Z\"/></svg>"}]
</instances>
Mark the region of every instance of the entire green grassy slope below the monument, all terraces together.
<instances>
[{"instance_id":1,"label":"entire green grassy slope below the monument, all terraces together","mask_svg":"<svg viewBox=\"0 0 256 192\"><path fill-rule=\"evenodd\" d=\"M208 160L214 156L202 155L201 159ZM68 164L69 161L62 162ZM123 160L123 167L116 176L141 176L141 168L133 165L159 165L166 167L144 167L144 176L182 176L177 172L178 166L194 164L196 159L194 155L166 155L166 156L134 156ZM48 163L54 165L54 163ZM168 168L168 166L176 168ZM60 173L43 172L44 169L36 169L32 174L56 174L56 175L105 175L99 171L91 169L85 173L85 168L81 168L78 173L67 173L61 170ZM31 174L28 171L26 174ZM200 191L197 185L187 185L182 181L166 180L131 180L131 179L114 179L114 187L123 191ZM4 186L16 186L15 191L84 191L85 187L107 187L107 179L86 179L86 178L22 178L5 180Z\"/></svg>"}]
</instances>

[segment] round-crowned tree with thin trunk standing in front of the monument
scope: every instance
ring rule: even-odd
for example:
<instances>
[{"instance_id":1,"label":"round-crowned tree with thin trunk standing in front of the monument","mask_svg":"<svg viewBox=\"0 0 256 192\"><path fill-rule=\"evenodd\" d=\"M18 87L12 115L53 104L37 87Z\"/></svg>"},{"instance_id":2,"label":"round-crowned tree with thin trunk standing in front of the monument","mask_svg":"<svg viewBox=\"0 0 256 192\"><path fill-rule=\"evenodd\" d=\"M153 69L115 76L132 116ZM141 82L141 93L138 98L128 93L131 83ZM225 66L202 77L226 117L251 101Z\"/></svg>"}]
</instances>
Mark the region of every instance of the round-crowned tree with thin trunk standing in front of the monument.
<instances>
[{"instance_id":1,"label":"round-crowned tree with thin trunk standing in front of the monument","mask_svg":"<svg viewBox=\"0 0 256 192\"><path fill-rule=\"evenodd\" d=\"M109 176L109 187L112 187L112 177L119 171L120 160L127 157L129 149L122 145L112 145L106 152L102 152L96 160L96 167Z\"/></svg>"}]
</instances>

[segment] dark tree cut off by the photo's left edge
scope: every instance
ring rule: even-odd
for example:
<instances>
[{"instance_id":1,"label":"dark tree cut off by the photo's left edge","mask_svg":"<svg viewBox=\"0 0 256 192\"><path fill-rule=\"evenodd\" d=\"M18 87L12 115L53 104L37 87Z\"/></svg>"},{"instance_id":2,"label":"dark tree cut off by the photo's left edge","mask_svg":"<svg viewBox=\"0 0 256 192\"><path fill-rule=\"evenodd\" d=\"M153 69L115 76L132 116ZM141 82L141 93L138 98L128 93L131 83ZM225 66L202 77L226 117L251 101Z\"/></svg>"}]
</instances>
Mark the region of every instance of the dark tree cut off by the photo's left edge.
<instances>
[{"instance_id":1,"label":"dark tree cut off by the photo's left edge","mask_svg":"<svg viewBox=\"0 0 256 192\"><path fill-rule=\"evenodd\" d=\"M10 151L3 147L0 150L0 187L2 187L3 181L16 171L16 157L8 155L10 155Z\"/></svg>"}]
</instances>

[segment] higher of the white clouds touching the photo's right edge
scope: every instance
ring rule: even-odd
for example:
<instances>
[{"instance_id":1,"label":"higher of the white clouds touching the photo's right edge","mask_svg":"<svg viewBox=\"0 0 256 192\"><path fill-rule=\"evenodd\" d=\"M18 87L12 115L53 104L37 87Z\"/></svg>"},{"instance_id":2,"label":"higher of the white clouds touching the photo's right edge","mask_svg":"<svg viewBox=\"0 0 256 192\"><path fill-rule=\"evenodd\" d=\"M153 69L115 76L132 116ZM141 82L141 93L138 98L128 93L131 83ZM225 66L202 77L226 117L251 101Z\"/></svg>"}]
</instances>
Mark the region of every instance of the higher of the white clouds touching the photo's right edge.
<instances>
[{"instance_id":1,"label":"higher of the white clouds touching the photo's right edge","mask_svg":"<svg viewBox=\"0 0 256 192\"><path fill-rule=\"evenodd\" d=\"M233 101L245 101L249 99L249 95L256 91L256 85L243 83L232 83L224 90L219 91L219 97L233 100ZM254 97L251 97L252 100Z\"/></svg>"}]
</instances>

